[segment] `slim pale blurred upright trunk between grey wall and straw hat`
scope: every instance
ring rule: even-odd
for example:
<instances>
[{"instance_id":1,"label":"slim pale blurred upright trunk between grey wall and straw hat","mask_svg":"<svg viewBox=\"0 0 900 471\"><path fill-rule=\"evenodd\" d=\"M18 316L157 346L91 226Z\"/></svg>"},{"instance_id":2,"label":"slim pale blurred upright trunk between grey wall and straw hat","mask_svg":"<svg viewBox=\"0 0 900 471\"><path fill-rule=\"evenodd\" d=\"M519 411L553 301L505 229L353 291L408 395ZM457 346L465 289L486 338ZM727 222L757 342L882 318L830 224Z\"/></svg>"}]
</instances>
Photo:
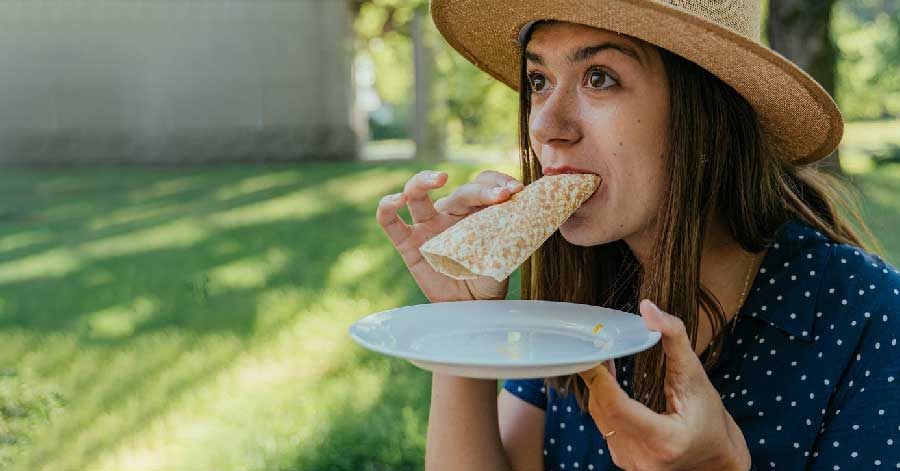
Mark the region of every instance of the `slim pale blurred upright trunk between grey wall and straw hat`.
<instances>
[{"instance_id":1,"label":"slim pale blurred upright trunk between grey wall and straw hat","mask_svg":"<svg viewBox=\"0 0 900 471\"><path fill-rule=\"evenodd\" d=\"M413 100L412 137L416 143L416 158L439 161L445 157L446 121L441 95L434 87L435 51L428 34L427 5L414 10L412 22L413 67L415 69L415 97Z\"/></svg>"}]
</instances>

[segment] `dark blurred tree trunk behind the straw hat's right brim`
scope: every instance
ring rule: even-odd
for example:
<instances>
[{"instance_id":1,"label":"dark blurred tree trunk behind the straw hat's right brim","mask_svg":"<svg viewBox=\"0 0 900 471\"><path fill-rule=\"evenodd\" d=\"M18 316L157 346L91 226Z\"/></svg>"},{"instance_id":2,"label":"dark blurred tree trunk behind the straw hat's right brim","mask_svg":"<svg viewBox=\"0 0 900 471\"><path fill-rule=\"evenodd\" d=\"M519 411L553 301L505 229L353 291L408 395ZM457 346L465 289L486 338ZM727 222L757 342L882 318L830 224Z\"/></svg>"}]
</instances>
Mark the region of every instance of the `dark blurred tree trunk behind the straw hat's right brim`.
<instances>
[{"instance_id":1,"label":"dark blurred tree trunk behind the straw hat's right brim","mask_svg":"<svg viewBox=\"0 0 900 471\"><path fill-rule=\"evenodd\" d=\"M769 45L818 81L834 96L837 47L831 39L831 10L835 0L769 0L766 20ZM838 152L822 167L843 173Z\"/></svg>"}]
</instances>

